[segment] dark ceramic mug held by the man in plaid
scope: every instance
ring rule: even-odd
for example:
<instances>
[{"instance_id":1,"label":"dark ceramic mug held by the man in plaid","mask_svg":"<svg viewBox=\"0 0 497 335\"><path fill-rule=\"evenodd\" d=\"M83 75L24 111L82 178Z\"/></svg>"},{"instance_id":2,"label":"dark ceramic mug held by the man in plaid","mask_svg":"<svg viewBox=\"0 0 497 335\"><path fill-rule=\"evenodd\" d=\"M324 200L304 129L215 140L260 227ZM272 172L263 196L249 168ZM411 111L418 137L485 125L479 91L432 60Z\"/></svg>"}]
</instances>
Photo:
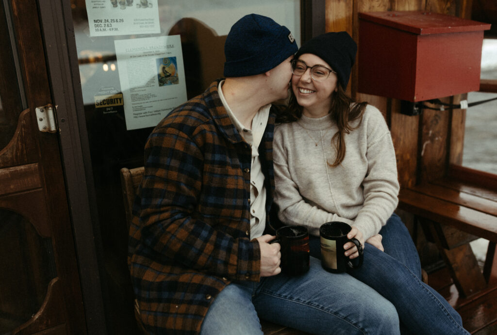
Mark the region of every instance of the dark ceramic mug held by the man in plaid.
<instances>
[{"instance_id":1,"label":"dark ceramic mug held by the man in plaid","mask_svg":"<svg viewBox=\"0 0 497 335\"><path fill-rule=\"evenodd\" d=\"M309 271L309 230L299 225L283 226L276 230L276 239L271 243L281 245L281 271L288 275L299 275Z\"/></svg>"}]
</instances>

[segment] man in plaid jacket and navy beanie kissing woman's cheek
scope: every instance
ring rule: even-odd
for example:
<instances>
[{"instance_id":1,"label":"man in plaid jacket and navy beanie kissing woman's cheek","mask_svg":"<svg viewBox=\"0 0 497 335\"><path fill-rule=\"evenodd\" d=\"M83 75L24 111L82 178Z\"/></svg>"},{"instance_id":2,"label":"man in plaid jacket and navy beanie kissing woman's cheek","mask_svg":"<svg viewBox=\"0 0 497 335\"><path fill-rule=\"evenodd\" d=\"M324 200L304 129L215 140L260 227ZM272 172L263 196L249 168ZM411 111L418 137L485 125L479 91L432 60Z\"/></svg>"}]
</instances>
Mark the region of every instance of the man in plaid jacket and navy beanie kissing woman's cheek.
<instances>
[{"instance_id":1,"label":"man in plaid jacket and navy beanie kissing woman's cheek","mask_svg":"<svg viewBox=\"0 0 497 335\"><path fill-rule=\"evenodd\" d=\"M261 334L257 314L314 333L399 332L388 301L357 292L316 259L305 275L280 274L280 246L264 234L274 191L271 102L288 95L296 51L286 27L244 16L226 39L226 79L150 135L128 258L149 332Z\"/></svg>"}]
</instances>

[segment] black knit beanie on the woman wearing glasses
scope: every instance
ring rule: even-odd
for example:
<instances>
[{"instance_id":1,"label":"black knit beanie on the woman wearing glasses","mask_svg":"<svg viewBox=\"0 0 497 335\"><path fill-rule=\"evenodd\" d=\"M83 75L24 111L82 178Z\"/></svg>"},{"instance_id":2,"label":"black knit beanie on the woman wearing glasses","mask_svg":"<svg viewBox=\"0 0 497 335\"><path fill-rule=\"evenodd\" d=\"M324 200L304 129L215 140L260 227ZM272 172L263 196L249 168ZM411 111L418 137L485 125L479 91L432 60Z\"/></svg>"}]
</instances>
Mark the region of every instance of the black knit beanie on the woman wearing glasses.
<instances>
[{"instance_id":1,"label":"black knit beanie on the woman wearing glasses","mask_svg":"<svg viewBox=\"0 0 497 335\"><path fill-rule=\"evenodd\" d=\"M356 53L357 44L352 37L347 32L340 31L310 39L295 54L295 58L303 54L314 54L322 58L336 71L338 82L343 89L346 89Z\"/></svg>"}]
</instances>

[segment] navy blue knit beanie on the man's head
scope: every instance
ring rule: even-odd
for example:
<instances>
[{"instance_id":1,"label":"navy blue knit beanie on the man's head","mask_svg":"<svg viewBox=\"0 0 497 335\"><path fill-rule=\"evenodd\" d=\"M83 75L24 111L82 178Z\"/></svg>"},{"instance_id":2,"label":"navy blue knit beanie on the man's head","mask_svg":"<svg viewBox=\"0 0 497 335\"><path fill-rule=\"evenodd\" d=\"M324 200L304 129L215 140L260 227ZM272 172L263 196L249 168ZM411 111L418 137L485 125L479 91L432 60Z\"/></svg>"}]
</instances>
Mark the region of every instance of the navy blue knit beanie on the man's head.
<instances>
[{"instance_id":1,"label":"navy blue knit beanie on the man's head","mask_svg":"<svg viewBox=\"0 0 497 335\"><path fill-rule=\"evenodd\" d=\"M244 77L269 71L298 50L287 27L258 14L238 20L226 38L225 77Z\"/></svg>"}]
</instances>

